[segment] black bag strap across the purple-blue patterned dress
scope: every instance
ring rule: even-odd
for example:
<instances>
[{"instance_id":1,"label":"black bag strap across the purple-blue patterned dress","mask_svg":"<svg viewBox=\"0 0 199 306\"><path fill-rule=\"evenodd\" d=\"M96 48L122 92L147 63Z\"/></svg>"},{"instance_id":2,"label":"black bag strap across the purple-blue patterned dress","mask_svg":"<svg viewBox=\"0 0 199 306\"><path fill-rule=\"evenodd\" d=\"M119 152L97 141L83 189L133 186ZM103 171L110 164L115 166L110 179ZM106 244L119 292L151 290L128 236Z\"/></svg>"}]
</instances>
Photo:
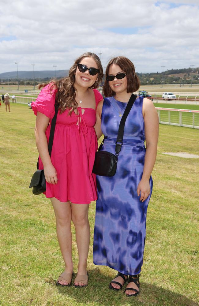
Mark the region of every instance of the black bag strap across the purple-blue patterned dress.
<instances>
[{"instance_id":1,"label":"black bag strap across the purple-blue patterned dress","mask_svg":"<svg viewBox=\"0 0 199 306\"><path fill-rule=\"evenodd\" d=\"M119 155L119 152L121 151L122 148L122 144L123 144L123 136L124 136L124 126L125 126L125 122L126 122L126 118L133 106L133 103L135 102L135 99L137 98L137 95L132 94L129 102L126 106L126 109L124 111L124 114L121 118L120 124L119 124L119 129L118 129L118 137L115 143L115 153L116 155Z\"/></svg>"}]
</instances>

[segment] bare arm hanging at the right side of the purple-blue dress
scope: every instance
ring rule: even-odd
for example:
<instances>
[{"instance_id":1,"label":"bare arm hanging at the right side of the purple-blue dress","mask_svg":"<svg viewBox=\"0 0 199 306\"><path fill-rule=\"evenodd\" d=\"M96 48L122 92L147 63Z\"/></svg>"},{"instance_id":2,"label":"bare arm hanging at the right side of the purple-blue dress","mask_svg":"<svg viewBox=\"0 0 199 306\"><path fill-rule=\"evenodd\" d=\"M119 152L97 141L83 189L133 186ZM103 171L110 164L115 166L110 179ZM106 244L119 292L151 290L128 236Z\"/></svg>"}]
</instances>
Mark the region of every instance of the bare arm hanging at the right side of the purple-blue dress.
<instances>
[{"instance_id":1,"label":"bare arm hanging at the right side of the purple-blue dress","mask_svg":"<svg viewBox=\"0 0 199 306\"><path fill-rule=\"evenodd\" d=\"M143 117L145 121L146 155L141 181L137 187L137 195L145 201L150 194L149 178L156 162L159 120L155 106L149 99L143 101Z\"/></svg>"}]
</instances>

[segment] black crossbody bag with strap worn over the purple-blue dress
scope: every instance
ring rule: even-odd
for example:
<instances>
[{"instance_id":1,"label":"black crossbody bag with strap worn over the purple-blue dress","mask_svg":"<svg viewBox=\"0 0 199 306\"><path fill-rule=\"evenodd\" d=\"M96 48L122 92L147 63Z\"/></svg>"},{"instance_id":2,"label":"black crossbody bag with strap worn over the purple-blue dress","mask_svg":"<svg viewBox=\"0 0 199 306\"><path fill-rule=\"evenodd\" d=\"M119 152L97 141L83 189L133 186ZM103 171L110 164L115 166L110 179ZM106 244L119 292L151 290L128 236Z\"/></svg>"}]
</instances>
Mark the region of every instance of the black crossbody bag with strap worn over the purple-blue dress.
<instances>
[{"instance_id":1,"label":"black crossbody bag with strap worn over the purple-blue dress","mask_svg":"<svg viewBox=\"0 0 199 306\"><path fill-rule=\"evenodd\" d=\"M126 122L126 118L135 102L137 95L132 94L129 102L126 106L124 114L121 118L119 129L118 129L118 136L115 143L115 154L107 151L100 151L101 147L103 146L104 139L100 144L100 147L95 155L95 162L93 166L92 172L96 175L100 176L114 176L117 170L117 163L118 163L118 155L121 151L122 144L123 144L123 136L124 136L124 126Z\"/></svg>"}]
</instances>

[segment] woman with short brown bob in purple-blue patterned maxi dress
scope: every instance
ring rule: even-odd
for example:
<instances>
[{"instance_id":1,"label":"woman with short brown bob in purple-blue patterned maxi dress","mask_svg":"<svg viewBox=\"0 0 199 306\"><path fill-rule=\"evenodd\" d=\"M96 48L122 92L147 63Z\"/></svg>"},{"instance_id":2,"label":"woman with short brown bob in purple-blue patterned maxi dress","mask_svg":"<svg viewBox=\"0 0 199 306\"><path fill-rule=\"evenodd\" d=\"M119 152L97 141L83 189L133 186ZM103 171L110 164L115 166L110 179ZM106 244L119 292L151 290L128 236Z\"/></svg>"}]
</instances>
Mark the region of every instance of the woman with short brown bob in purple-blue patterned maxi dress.
<instances>
[{"instance_id":1,"label":"woman with short brown bob in purple-blue patterned maxi dress","mask_svg":"<svg viewBox=\"0 0 199 306\"><path fill-rule=\"evenodd\" d=\"M96 134L106 136L103 151L115 154L118 127L139 79L125 57L111 59L106 69L105 98L97 107ZM94 230L94 264L118 271L109 288L139 294L143 263L146 214L152 194L152 169L156 160L158 115L153 103L137 97L126 119L123 145L115 176L97 176L98 200ZM145 148L145 140L146 147Z\"/></svg>"}]
</instances>

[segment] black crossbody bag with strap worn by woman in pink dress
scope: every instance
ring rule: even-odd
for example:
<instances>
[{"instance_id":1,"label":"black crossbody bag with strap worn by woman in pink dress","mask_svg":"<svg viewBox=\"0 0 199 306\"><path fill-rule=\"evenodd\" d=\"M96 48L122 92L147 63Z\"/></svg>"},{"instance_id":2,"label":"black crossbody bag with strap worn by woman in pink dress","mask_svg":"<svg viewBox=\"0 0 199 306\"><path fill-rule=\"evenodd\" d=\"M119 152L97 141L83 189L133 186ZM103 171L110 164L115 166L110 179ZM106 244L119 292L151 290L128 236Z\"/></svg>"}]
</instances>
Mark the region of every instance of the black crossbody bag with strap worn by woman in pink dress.
<instances>
[{"instance_id":1,"label":"black crossbody bag with strap worn by woman in pink dress","mask_svg":"<svg viewBox=\"0 0 199 306\"><path fill-rule=\"evenodd\" d=\"M48 140L48 152L50 156L51 156L52 146L53 146L54 130L55 130L55 124L57 120L57 113L58 113L58 106L56 105L55 114L51 121L51 131L50 131L50 136ZM33 194L41 194L44 191L46 191L46 179L45 179L43 169L39 170L39 158L37 161L37 171L35 171L35 173L32 176L29 188L32 188Z\"/></svg>"}]
</instances>

